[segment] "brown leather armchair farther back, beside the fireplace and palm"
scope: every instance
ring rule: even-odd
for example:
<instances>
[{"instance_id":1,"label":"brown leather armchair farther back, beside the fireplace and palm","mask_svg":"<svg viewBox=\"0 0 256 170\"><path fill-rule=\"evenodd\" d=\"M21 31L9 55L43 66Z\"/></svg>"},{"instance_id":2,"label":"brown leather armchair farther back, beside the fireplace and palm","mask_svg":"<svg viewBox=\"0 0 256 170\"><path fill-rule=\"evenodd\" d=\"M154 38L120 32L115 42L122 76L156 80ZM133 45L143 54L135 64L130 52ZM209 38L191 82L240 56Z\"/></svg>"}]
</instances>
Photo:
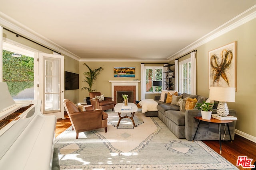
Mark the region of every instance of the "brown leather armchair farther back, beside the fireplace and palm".
<instances>
[{"instance_id":1,"label":"brown leather armchair farther back, beside the fireplace and palm","mask_svg":"<svg viewBox=\"0 0 256 170\"><path fill-rule=\"evenodd\" d=\"M100 109L100 110L112 109L112 111L114 111L114 101L112 101L112 98L104 97L103 101L96 99L95 96L101 96L100 92L90 92L89 96L90 96L91 105L94 106L95 109Z\"/></svg>"}]
</instances>

